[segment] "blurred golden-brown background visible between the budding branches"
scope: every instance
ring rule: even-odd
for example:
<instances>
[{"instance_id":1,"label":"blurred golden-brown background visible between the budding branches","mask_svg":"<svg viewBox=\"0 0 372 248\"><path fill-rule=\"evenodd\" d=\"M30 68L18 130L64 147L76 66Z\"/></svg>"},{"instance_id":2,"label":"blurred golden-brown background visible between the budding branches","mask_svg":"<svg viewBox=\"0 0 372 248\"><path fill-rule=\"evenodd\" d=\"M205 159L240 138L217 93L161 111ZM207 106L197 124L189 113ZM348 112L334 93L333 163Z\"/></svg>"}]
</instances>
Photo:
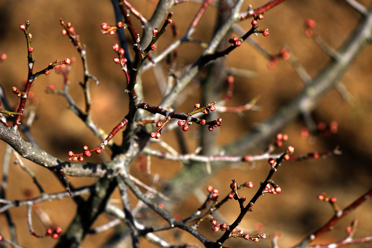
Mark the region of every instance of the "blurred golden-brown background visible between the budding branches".
<instances>
[{"instance_id":1,"label":"blurred golden-brown background visible between the budding branches","mask_svg":"<svg viewBox=\"0 0 372 248\"><path fill-rule=\"evenodd\" d=\"M247 4L253 7L264 4L264 0L251 0ZM132 1L142 14L149 18L157 1ZM362 0L360 3L368 6L370 0ZM190 18L198 8L199 3L183 3L174 7L174 23L180 34L183 35ZM212 35L216 9L211 7L202 18L200 25L193 37L208 42ZM75 30L80 34L81 41L86 44L87 57L90 72L100 79L101 85L96 87L92 84L93 118L106 132L124 117L127 111L127 95L123 92L125 86L124 74L119 66L112 62L115 53L112 44L116 43L116 36L102 35L100 24L107 22L113 24L113 11L110 1L1 1L0 2L0 53L6 53L7 59L0 64L0 83L4 87L10 102L16 106L17 97L12 93L11 87L23 88L23 82L27 77L27 51L25 36L19 30L19 24L28 19L31 22L30 32L33 36L32 53L35 60L35 70L39 71L57 59L78 57L73 45L68 38L61 35L59 18L71 22ZM304 21L312 18L317 22L315 32L325 42L334 48L339 48L360 20L360 15L341 0L324 1L295 1L287 0L278 7L266 13L264 19L259 22L261 28L269 28L270 35L255 37L270 53L278 53L280 48L289 47L303 64L311 76L317 73L330 61L330 58L304 34ZM136 22L137 28L140 28ZM250 20L241 23L248 30ZM162 50L170 42L170 33L161 37L158 50ZM193 44L187 44L179 48L179 67L192 63L201 48ZM259 105L263 107L261 112L245 112L244 116L236 114L223 114L224 125L218 128L221 144L232 142L242 133L249 131L256 123L264 121L280 106L291 101L303 88L304 83L285 61L279 61L273 70L267 68L267 60L249 44L244 43L239 49L233 51L227 58L230 66L256 71L257 77L235 79L234 96L228 106L245 104L254 96L260 95ZM336 196L340 207L345 207L357 197L365 193L372 185L372 47L367 46L349 67L342 82L355 98L355 104L349 105L336 90L332 90L320 102L312 116L317 122L336 120L339 123L339 132L331 137L317 138L315 142L301 139L300 130L305 127L302 120L297 120L283 130L289 135L287 145L295 147L295 155L310 151L328 151L340 146L343 154L332 156L326 160L309 160L305 162L284 163L273 178L282 187L280 195L265 195L255 205L254 211L244 219L241 228L256 233L254 226L263 224L262 232L281 232L283 237L279 241L280 247L294 245L305 235L314 231L325 223L333 214L328 204L318 201L316 195L320 191L326 191L330 196ZM165 69L164 69L165 71ZM70 73L70 93L77 104L83 108L83 95L77 81L82 80L81 63L77 60ZM157 105L161 96L154 81L153 72L149 71L144 77L145 95L148 103ZM38 98L37 119L32 125L32 133L39 145L47 152L61 159L67 159L68 150L81 150L83 145L96 146L100 141L95 138L88 128L66 108L67 102L60 96L48 95L44 89L54 84L57 89L61 87L62 78L54 71L48 76L40 76L32 86L35 97ZM198 95L198 93L196 94ZM192 108L195 102L200 101L194 96L187 101L179 111ZM215 101L215 99L211 99ZM193 130L194 129L194 130ZM196 147L196 129L190 128L187 132L188 144L191 149ZM173 135L163 135L162 139L174 144ZM116 137L120 142L120 136ZM4 150L5 144L1 142L0 150ZM2 161L0 153L0 161ZM109 155L100 158L93 157L92 161L107 160ZM48 193L62 191L63 187L54 176L41 166L28 161L25 164L35 172L36 177L45 187ZM28 174L19 166L11 165L8 198L22 199L26 190L32 190L34 196L38 195L36 187ZM153 172L158 172L164 178L170 178L179 170L178 163L170 163L157 159L152 160ZM228 185L231 179L238 182L253 181L257 186L263 181L268 172L266 162L256 163L254 169L249 169L246 164L234 165L228 171L218 173L205 186L213 185L219 188L221 195L230 191ZM2 173L2 172L0 172ZM132 174L146 181L142 172L133 166ZM82 186L91 184L91 178L70 178L74 185ZM255 187L256 188L256 187ZM204 191L206 192L206 191ZM253 195L254 190L246 190L247 198ZM118 199L118 194L113 198ZM76 209L71 200L54 201L41 204L52 221L65 229L68 226ZM177 210L182 217L187 217L199 207L195 197L186 199L182 207ZM357 210L350 213L346 218L335 226L332 232L324 235L319 242L337 241L344 237L344 229L353 218L359 217L359 227L356 237L372 235L372 201L367 201ZM232 222L238 214L237 203L227 204L220 211L227 222ZM51 247L56 241L51 238L36 239L29 235L26 222L26 208L15 208L10 211L16 223L20 245L25 247ZM106 223L108 219L101 217L96 226ZM35 217L33 218L34 229L38 233L44 232L45 228ZM0 216L1 233L9 237L4 216ZM222 233L212 233L211 225L206 223L203 233L209 238L218 238ZM97 235L91 235L83 242L82 247L101 247L105 237L112 233L109 230ZM161 233L160 233L161 235ZM190 235L182 234L182 238L188 242L197 242ZM270 247L269 238L261 240L257 244L251 241L234 239L226 245L230 247ZM147 247L147 243L142 245ZM370 245L370 244L369 244ZM354 247L369 247L369 245L355 245Z\"/></svg>"}]
</instances>

